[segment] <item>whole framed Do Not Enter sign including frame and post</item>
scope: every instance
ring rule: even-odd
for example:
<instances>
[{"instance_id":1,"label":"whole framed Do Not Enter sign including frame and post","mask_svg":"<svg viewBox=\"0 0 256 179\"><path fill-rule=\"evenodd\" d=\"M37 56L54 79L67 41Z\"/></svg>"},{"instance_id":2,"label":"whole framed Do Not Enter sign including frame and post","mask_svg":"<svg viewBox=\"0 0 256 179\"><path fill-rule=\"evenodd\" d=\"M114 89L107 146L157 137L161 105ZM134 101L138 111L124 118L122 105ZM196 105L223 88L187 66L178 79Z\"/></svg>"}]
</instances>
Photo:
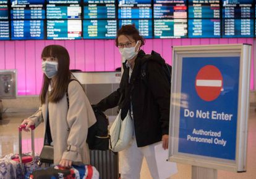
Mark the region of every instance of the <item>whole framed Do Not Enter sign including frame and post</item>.
<instances>
[{"instance_id":1,"label":"whole framed Do Not Enter sign including frame and post","mask_svg":"<svg viewBox=\"0 0 256 179\"><path fill-rule=\"evenodd\" d=\"M246 171L250 47L173 48L169 161L192 178Z\"/></svg>"}]
</instances>

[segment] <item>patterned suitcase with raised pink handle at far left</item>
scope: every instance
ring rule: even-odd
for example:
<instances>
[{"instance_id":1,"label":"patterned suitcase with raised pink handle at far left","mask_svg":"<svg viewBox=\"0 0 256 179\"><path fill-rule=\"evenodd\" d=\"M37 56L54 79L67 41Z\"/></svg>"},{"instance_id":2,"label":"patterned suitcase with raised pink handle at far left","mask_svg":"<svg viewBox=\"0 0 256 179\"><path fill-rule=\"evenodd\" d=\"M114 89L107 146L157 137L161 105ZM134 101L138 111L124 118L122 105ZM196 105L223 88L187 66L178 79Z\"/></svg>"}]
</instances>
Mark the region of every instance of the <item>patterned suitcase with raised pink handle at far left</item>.
<instances>
[{"instance_id":1,"label":"patterned suitcase with raised pink handle at far left","mask_svg":"<svg viewBox=\"0 0 256 179\"><path fill-rule=\"evenodd\" d=\"M9 179L17 178L23 179L27 178L27 173L32 172L32 170L39 168L38 166L38 156L35 156L35 145L34 145L34 129L33 125L31 128L31 139L32 139L32 153L22 154L22 129L25 125L20 125L19 127L19 155L18 154L8 154L0 159L0 178Z\"/></svg>"}]
</instances>

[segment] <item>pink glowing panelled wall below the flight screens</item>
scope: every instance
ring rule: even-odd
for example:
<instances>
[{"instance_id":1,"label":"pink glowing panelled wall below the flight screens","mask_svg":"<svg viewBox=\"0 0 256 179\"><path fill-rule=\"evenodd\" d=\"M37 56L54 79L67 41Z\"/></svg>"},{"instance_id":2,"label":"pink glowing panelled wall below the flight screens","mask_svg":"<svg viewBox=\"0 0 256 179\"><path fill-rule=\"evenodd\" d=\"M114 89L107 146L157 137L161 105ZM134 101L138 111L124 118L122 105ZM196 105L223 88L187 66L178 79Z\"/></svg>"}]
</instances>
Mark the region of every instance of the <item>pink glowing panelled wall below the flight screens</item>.
<instances>
[{"instance_id":1,"label":"pink glowing panelled wall below the flight screens","mask_svg":"<svg viewBox=\"0 0 256 179\"><path fill-rule=\"evenodd\" d=\"M159 52L172 63L172 46L207 44L254 44L252 38L242 39L147 39L142 47L146 53ZM0 41L0 70L17 69L18 94L38 95L41 89L41 50L49 44L59 44L67 48L70 55L70 69L82 71L114 71L121 66L118 49L114 40L76 41ZM254 59L254 47L252 59ZM251 63L250 89L254 88L253 61Z\"/></svg>"}]
</instances>

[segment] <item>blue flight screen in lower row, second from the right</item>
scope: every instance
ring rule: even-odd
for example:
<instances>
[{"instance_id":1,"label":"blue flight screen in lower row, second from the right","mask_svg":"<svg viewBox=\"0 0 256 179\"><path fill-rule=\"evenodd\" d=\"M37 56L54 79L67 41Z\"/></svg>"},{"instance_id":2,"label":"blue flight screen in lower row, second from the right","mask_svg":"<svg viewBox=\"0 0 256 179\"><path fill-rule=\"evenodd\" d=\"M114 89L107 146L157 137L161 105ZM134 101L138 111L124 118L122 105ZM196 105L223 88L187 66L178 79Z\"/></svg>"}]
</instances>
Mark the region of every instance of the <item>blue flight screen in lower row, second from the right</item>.
<instances>
[{"instance_id":1,"label":"blue flight screen in lower row, second from the right","mask_svg":"<svg viewBox=\"0 0 256 179\"><path fill-rule=\"evenodd\" d=\"M220 19L189 19L189 38L220 38Z\"/></svg>"}]
</instances>

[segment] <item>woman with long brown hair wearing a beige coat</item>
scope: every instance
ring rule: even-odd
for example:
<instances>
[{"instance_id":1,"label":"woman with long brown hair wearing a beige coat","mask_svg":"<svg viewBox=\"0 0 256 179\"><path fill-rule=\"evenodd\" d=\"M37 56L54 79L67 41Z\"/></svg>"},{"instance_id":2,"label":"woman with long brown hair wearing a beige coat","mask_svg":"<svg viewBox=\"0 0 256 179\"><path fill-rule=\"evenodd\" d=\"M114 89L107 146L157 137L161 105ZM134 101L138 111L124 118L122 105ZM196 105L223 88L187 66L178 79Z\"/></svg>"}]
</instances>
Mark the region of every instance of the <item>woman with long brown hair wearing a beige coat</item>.
<instances>
[{"instance_id":1,"label":"woman with long brown hair wearing a beige coat","mask_svg":"<svg viewBox=\"0 0 256 179\"><path fill-rule=\"evenodd\" d=\"M45 123L45 143L54 148L54 164L70 167L74 162L89 164L86 142L88 127L96 122L82 86L69 70L69 53L58 45L46 46L41 54L43 87L41 106L22 124L36 127Z\"/></svg>"}]
</instances>

